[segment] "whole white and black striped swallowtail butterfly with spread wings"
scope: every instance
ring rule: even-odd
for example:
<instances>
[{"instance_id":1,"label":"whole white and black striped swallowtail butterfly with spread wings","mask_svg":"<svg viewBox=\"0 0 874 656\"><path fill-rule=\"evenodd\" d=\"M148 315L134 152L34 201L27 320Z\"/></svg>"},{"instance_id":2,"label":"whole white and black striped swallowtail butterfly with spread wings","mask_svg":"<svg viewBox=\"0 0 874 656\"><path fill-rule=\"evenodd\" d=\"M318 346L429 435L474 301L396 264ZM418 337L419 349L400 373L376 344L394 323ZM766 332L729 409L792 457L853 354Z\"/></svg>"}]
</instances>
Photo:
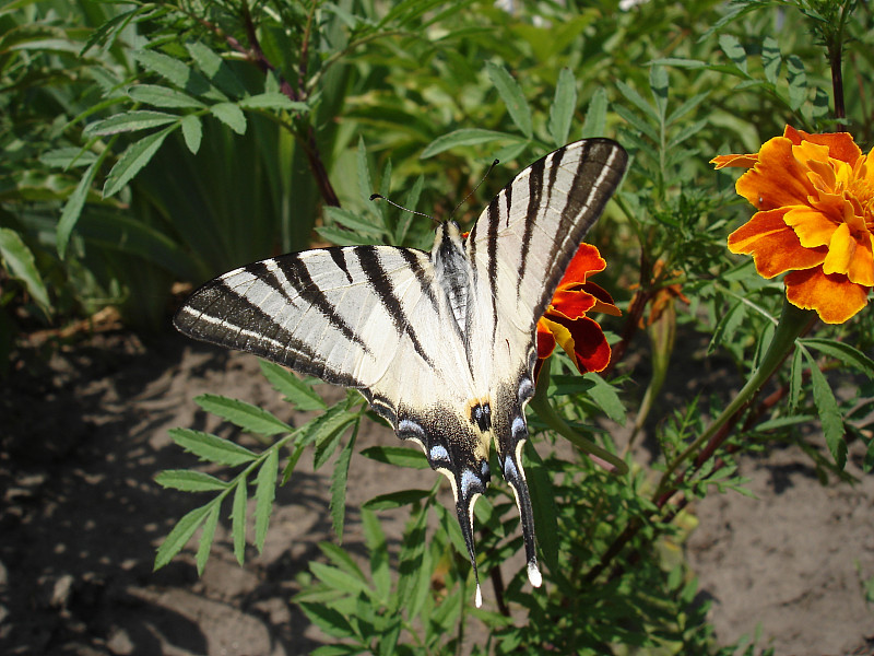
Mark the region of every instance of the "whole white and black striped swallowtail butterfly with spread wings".
<instances>
[{"instance_id":1,"label":"whole white and black striped swallowtail butterfly with spread wings","mask_svg":"<svg viewBox=\"0 0 874 656\"><path fill-rule=\"evenodd\" d=\"M489 481L494 441L538 587L521 462L535 326L626 163L614 141L577 141L522 171L466 237L448 221L430 253L350 246L247 265L197 290L174 324L194 339L355 388L398 437L417 443L452 487L476 606L473 504Z\"/></svg>"}]
</instances>

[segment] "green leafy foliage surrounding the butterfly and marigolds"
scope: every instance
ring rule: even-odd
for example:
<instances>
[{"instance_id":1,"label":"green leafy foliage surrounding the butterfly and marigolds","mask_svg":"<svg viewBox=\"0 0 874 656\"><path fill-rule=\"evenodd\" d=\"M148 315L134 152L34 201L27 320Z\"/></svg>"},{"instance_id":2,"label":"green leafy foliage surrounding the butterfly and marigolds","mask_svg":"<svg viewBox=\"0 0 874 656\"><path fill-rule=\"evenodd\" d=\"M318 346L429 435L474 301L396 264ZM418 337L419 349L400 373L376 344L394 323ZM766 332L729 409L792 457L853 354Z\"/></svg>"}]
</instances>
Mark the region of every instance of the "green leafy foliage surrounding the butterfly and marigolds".
<instances>
[{"instance_id":1,"label":"green leafy foliage surrounding the butterfly and marigolds","mask_svg":"<svg viewBox=\"0 0 874 656\"><path fill-rule=\"evenodd\" d=\"M677 330L709 340L709 352L730 358L741 376L764 358L782 286L725 249L727 235L751 211L734 196L733 176L714 174L708 161L756 152L787 124L848 130L866 151L874 141L870 10L849 0L505 4L7 3L0 358L20 331L106 305L118 306L133 327L163 328L174 282L198 284L314 241L428 248L427 220L371 203L370 194L446 218L494 157L501 167L479 199L506 183L505 172L568 141L616 138L631 163L589 236L609 262L599 282L625 309L624 318L603 323L614 363L603 377L580 377L558 360L547 396L570 430L593 433L613 453L594 420L622 423L627 409L637 410L634 435L645 421L658 426L661 457L650 469L635 465L640 447L631 442L617 454L629 472L611 475L582 454L556 456L562 431L533 414L541 434L538 450L527 450L527 469L545 591L532 594L521 575L506 585L493 579L496 608L473 609L461 536L452 514L435 503L435 482L371 501L363 514L369 562L324 544L296 601L324 632L323 655L458 651L474 618L492 636L475 653L542 645L560 653L734 653L713 644L707 605L693 604L694 577L664 547L682 542L688 500L743 491L734 475L741 453L798 443L824 481L847 477L846 440L870 440L854 419L870 411L871 319L862 313L799 341L772 380L787 402L752 403L718 443L700 438L724 398L690 398L660 418L650 410ZM840 122L836 59L847 84ZM470 225L477 204L462 204L456 219ZM648 305L672 284L690 304L672 300L646 328L648 340L635 342L648 367L627 364L623 356ZM830 370L852 371L862 382L851 398L832 394L840 379L822 373ZM241 401L199 398L210 412L269 437L270 446L255 453L206 433L174 432L181 447L233 473L160 478L210 501L181 518L158 566L201 529L202 569L222 507L231 508L243 561L250 494L255 543L262 546L276 480L293 476L308 449L317 466L340 453L331 514L342 536L346 472L366 408L355 395L328 408L281 367L265 364L264 375L298 408L324 414L293 430ZM798 430L811 421L822 421L825 448ZM711 444L718 450L708 454ZM402 447L362 455L427 467ZM869 447L869 468L872 461ZM410 506L410 519L395 551L377 511L398 506ZM481 501L476 515L485 527L477 537L481 571L495 571L521 547L508 490ZM441 530L426 530L429 516ZM527 620L511 621L508 608Z\"/></svg>"}]
</instances>

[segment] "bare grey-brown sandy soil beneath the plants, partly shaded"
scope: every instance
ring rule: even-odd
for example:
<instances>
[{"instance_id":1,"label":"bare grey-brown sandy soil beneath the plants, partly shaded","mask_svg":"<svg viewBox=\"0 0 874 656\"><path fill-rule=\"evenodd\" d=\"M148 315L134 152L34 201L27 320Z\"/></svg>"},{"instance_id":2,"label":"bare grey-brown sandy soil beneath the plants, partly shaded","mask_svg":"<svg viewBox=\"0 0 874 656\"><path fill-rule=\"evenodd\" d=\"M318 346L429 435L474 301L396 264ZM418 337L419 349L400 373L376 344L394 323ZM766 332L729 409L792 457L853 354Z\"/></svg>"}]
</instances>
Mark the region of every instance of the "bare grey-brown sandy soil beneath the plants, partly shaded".
<instances>
[{"instance_id":1,"label":"bare grey-brown sandy soil beneath the plants, partly shaded","mask_svg":"<svg viewBox=\"0 0 874 656\"><path fill-rule=\"evenodd\" d=\"M263 553L238 566L220 526L202 577L190 551L152 572L155 547L197 505L153 481L193 462L167 431L218 427L193 397L224 394L295 419L255 358L109 333L33 360L0 390L0 654L280 656L319 644L290 602L331 535L330 467L314 472L306 456L277 491ZM395 443L375 425L358 448ZM826 488L796 449L751 457L742 473L758 499L714 494L695 506L688 555L720 642L760 624L758 644L778 656L874 654L860 584L874 577L874 476L853 456L861 482ZM362 502L416 477L353 458L346 546L359 543ZM402 515L389 517L399 535Z\"/></svg>"}]
</instances>

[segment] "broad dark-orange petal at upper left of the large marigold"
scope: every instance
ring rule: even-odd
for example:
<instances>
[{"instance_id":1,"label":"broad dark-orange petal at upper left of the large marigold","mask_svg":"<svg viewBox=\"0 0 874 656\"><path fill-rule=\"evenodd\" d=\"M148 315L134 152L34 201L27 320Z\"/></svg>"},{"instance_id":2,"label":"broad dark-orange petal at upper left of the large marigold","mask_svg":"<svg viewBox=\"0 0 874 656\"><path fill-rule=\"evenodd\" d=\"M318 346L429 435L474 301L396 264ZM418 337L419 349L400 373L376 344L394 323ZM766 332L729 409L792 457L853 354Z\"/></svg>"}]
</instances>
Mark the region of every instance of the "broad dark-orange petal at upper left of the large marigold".
<instances>
[{"instance_id":1,"label":"broad dark-orange petal at upper left of the large marigold","mask_svg":"<svg viewBox=\"0 0 874 656\"><path fill-rule=\"evenodd\" d=\"M792 148L784 137L768 140L758 153L756 165L737 179L737 194L759 210L806 204L807 197L816 190Z\"/></svg>"}]
</instances>

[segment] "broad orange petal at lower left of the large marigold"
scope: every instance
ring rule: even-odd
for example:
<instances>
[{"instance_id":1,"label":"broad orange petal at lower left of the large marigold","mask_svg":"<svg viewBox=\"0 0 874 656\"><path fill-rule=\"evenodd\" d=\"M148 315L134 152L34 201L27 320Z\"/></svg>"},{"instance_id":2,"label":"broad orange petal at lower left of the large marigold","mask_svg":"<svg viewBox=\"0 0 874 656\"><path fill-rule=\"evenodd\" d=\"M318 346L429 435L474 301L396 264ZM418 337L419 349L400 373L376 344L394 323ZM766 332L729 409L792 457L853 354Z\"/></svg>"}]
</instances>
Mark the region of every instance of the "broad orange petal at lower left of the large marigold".
<instances>
[{"instance_id":1,"label":"broad orange petal at lower left of the large marigold","mask_svg":"<svg viewBox=\"0 0 874 656\"><path fill-rule=\"evenodd\" d=\"M791 269L810 269L822 265L826 248L804 248L795 232L783 221L784 208L756 212L729 235L729 250L752 255L756 271L763 278Z\"/></svg>"}]
</instances>

